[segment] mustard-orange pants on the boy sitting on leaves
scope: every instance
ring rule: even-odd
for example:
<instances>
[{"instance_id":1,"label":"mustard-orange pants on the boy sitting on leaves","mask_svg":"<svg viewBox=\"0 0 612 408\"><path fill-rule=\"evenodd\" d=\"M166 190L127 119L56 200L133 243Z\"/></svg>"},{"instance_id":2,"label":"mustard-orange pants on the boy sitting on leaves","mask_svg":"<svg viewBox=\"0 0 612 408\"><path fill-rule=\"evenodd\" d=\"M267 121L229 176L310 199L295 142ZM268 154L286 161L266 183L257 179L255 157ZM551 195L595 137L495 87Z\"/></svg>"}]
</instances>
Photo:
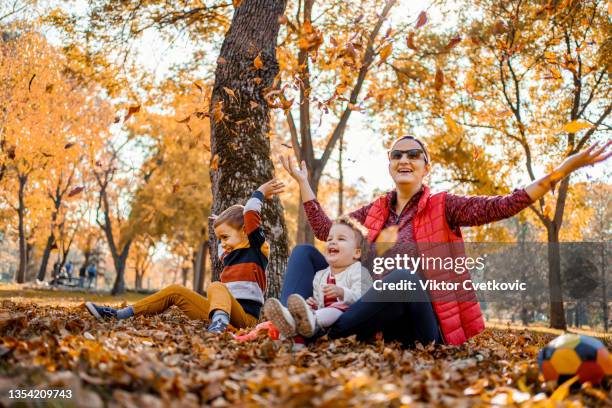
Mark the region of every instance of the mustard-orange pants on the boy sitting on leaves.
<instances>
[{"instance_id":1,"label":"mustard-orange pants on the boy sitting on leaves","mask_svg":"<svg viewBox=\"0 0 612 408\"><path fill-rule=\"evenodd\" d=\"M240 303L221 282L212 282L206 291L208 298L181 285L170 285L151 296L134 303L134 315L162 313L170 306L177 306L191 319L208 320L211 312L223 310L230 316L235 328L255 326L257 318L244 311Z\"/></svg>"}]
</instances>

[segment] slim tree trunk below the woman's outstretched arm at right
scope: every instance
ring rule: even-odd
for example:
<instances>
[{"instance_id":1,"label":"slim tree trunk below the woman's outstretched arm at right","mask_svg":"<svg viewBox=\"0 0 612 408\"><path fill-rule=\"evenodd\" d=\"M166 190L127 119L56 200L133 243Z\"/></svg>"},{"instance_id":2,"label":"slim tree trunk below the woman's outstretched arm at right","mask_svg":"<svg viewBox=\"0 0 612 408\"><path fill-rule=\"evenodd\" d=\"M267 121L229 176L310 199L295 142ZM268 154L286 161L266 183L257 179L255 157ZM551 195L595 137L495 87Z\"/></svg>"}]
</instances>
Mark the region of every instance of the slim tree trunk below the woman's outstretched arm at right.
<instances>
[{"instance_id":1,"label":"slim tree trunk below the woman's outstretched arm at right","mask_svg":"<svg viewBox=\"0 0 612 408\"><path fill-rule=\"evenodd\" d=\"M563 311L563 286L561 282L561 254L559 253L559 229L555 222L548 228L548 286L550 290L550 327L566 329Z\"/></svg>"}]
</instances>

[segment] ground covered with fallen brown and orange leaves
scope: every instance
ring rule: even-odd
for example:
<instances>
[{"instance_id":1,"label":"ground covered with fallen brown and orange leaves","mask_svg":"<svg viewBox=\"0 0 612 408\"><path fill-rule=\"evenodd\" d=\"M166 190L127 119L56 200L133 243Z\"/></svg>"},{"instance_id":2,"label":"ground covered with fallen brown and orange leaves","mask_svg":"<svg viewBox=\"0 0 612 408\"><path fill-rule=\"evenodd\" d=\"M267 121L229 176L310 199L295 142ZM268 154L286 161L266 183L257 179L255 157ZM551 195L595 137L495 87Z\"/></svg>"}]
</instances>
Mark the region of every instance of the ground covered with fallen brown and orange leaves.
<instances>
[{"instance_id":1,"label":"ground covered with fallen brown and orange leaves","mask_svg":"<svg viewBox=\"0 0 612 408\"><path fill-rule=\"evenodd\" d=\"M554 335L488 329L462 347L321 339L290 352L208 335L178 310L97 322L79 306L0 301L0 404L10 389L71 389L57 406L606 406L609 384L554 392L538 377ZM46 402L48 404L49 401ZM180 404L179 404L180 403ZM42 401L29 401L43 406Z\"/></svg>"}]
</instances>

